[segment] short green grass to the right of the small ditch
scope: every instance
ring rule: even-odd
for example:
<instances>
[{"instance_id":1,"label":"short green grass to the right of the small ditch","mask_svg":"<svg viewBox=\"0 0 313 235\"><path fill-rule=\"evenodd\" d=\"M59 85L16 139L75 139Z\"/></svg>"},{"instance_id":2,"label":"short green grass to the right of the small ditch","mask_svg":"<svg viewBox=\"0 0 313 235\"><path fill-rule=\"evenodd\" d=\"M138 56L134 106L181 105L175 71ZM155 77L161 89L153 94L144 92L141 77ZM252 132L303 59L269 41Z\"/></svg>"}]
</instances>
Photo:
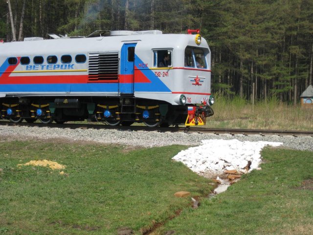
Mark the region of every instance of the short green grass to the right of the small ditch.
<instances>
[{"instance_id":1,"label":"short green grass to the right of the small ditch","mask_svg":"<svg viewBox=\"0 0 313 235\"><path fill-rule=\"evenodd\" d=\"M313 152L264 150L262 171L252 171L226 192L202 200L154 235L312 235ZM307 189L301 183L308 180Z\"/></svg>"}]
</instances>

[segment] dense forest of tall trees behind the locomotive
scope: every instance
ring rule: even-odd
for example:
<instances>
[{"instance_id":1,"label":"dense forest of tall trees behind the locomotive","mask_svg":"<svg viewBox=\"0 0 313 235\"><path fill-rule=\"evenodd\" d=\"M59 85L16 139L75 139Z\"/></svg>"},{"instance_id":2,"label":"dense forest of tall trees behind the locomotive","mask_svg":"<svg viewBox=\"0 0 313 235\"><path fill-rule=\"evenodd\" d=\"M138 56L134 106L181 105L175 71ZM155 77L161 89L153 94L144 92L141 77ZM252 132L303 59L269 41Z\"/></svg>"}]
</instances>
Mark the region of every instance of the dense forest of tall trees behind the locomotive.
<instances>
[{"instance_id":1,"label":"dense forest of tall trees behind the locomotive","mask_svg":"<svg viewBox=\"0 0 313 235\"><path fill-rule=\"evenodd\" d=\"M200 29L212 51L212 91L226 97L296 105L312 85L312 0L0 1L4 42L100 29Z\"/></svg>"}]
</instances>

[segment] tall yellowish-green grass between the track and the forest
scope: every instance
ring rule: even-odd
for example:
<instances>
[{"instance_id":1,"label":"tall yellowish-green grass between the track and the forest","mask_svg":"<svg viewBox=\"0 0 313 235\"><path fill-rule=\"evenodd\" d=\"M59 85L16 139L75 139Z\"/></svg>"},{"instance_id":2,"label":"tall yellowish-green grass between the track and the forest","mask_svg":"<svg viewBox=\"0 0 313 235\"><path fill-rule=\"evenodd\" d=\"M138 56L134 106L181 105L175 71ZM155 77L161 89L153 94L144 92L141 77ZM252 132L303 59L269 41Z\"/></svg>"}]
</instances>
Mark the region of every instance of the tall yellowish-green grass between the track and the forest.
<instances>
[{"instance_id":1,"label":"tall yellowish-green grass between the track and the forest","mask_svg":"<svg viewBox=\"0 0 313 235\"><path fill-rule=\"evenodd\" d=\"M280 103L276 99L256 102L216 97L214 115L206 122L208 128L313 130L313 107L303 108Z\"/></svg>"}]
</instances>

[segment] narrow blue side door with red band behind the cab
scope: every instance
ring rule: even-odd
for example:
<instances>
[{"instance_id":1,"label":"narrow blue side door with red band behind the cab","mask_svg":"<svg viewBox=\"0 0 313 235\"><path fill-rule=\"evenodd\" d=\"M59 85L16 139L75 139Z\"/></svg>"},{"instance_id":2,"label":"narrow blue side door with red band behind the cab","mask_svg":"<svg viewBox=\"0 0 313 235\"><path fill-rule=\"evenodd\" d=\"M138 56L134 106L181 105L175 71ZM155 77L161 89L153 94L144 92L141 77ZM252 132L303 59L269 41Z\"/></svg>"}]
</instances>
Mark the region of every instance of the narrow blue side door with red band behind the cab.
<instances>
[{"instance_id":1,"label":"narrow blue side door with red band behind the cab","mask_svg":"<svg viewBox=\"0 0 313 235\"><path fill-rule=\"evenodd\" d=\"M136 43L125 43L121 48L121 67L119 76L119 92L134 93L134 58Z\"/></svg>"}]
</instances>

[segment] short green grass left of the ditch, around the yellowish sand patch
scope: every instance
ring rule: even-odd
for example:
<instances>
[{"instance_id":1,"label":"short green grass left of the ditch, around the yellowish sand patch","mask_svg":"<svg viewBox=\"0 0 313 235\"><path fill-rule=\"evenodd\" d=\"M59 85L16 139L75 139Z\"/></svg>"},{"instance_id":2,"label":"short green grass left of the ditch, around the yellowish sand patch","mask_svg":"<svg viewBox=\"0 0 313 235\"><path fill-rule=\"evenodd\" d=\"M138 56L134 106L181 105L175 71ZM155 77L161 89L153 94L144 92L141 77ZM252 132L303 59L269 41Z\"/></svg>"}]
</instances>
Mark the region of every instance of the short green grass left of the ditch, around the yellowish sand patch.
<instances>
[{"instance_id":1,"label":"short green grass left of the ditch, around the yellowish sand patch","mask_svg":"<svg viewBox=\"0 0 313 235\"><path fill-rule=\"evenodd\" d=\"M190 197L212 190L210 181L171 158L185 147L124 150L61 142L0 145L0 234L135 234L189 207ZM30 160L66 165L64 175Z\"/></svg>"}]
</instances>

